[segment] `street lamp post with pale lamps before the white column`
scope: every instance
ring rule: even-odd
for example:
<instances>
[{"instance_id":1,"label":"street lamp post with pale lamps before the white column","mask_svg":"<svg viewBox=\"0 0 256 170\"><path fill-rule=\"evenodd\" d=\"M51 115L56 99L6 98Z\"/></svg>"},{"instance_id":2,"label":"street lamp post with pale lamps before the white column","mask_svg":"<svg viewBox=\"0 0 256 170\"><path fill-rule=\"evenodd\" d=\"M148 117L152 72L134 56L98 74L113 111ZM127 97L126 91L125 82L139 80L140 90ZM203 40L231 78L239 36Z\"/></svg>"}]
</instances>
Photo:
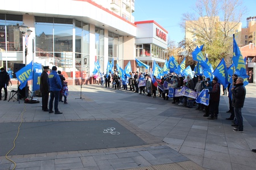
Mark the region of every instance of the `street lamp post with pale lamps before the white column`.
<instances>
[{"instance_id":1,"label":"street lamp post with pale lamps before the white column","mask_svg":"<svg viewBox=\"0 0 256 170\"><path fill-rule=\"evenodd\" d=\"M23 48L25 47L24 59L25 59L25 65L27 65L27 54L28 54L28 51L27 51L28 43L27 42L28 42L28 37L30 36L32 31L24 23L18 27L19 27L19 31L22 32L22 36L23 36L22 45L23 45ZM28 87L28 83L25 86L25 95L28 96L28 88L27 87ZM27 97L27 96L24 96L24 97Z\"/></svg>"}]
</instances>

